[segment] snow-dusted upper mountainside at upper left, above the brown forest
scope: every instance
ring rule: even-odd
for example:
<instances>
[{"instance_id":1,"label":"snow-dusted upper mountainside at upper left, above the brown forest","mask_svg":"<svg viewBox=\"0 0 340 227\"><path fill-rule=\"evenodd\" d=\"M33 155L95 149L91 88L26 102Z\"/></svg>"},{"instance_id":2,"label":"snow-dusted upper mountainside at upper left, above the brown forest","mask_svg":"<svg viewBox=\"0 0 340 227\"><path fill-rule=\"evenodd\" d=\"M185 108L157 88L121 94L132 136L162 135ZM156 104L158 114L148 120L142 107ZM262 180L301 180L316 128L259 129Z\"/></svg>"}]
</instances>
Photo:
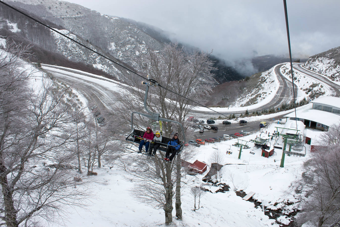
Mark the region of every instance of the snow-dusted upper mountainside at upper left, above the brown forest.
<instances>
[{"instance_id":1,"label":"snow-dusted upper mountainside at upper left, above the brown forest","mask_svg":"<svg viewBox=\"0 0 340 227\"><path fill-rule=\"evenodd\" d=\"M162 42L141 31L133 24L118 17L102 15L74 3L55 0L18 0L8 1L8 3L30 12L38 20L43 20L43 22L56 28L56 30L62 31L63 34L128 68L131 68L131 59L138 54L138 50L146 47L159 50L163 47ZM5 8L6 6L1 7L3 7L3 10L8 11L8 8ZM6 18L11 18L10 20L7 19L8 24L6 26L13 27L18 22L19 28L22 28L21 31L25 32L19 33L20 29L15 29L14 27L11 31L32 40L34 46L55 50L71 61L91 65L118 79L127 73L126 69L78 44L72 43L71 40L62 37L60 34L36 24L30 25L32 22L22 15L19 15L19 17L23 18L16 21L16 13L12 14L5 15ZM41 38L35 37L37 34L41 34Z\"/></svg>"}]
</instances>

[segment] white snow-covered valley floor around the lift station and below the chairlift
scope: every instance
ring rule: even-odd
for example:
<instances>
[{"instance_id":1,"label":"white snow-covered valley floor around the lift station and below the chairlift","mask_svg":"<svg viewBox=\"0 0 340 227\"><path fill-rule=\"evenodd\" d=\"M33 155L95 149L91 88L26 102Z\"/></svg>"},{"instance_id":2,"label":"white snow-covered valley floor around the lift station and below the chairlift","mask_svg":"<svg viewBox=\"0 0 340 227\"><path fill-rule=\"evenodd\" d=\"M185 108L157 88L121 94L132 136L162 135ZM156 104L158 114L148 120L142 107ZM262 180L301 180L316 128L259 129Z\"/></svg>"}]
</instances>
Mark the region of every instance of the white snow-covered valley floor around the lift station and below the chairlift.
<instances>
[{"instance_id":1,"label":"white snow-covered valley floor around the lift station and below the chairlift","mask_svg":"<svg viewBox=\"0 0 340 227\"><path fill-rule=\"evenodd\" d=\"M120 86L117 82L113 82L115 86L111 83L107 85L108 83L100 80L98 76L85 77L79 75L79 77L94 84L101 83L102 86L113 90L119 89ZM268 98L270 98L270 95L268 95ZM86 103L84 98L80 97L80 99ZM262 104L265 101L267 100L262 100ZM258 104L260 105L261 102ZM235 107L235 109L241 108ZM244 119L253 121L268 117L274 118L278 114L283 113ZM220 123L220 121L222 120L217 120L217 123ZM242 140L250 141L256 136L268 138L266 131L272 133L277 130L276 126L278 125L272 124L262 133L245 136ZM308 133L315 134L313 131ZM285 167L281 168L279 166L282 151L276 152L272 157L265 158L261 156L259 149L253 148L253 143L248 142L251 148L243 149L241 159L238 159L238 147L233 146L235 142L237 142L237 139L215 144L215 148L212 147L212 144L195 148L197 154L194 159L206 162L208 166L211 164L209 158L213 152L218 150L223 154L221 164L224 164L224 166L221 169L221 182L228 184L231 188L230 191L225 193L216 193L218 187L203 182L202 178L209 169L202 175L186 176L190 178L190 184L183 185L182 188L183 221L174 218L172 226L279 226L274 219L265 215L260 207L255 208L253 202L245 201L237 196L233 189L243 190L245 193L254 192L253 198L258 201L263 200L263 205L271 210L282 209L283 213L289 214L298 208L298 203L287 205L288 202L296 202L294 197L288 194L293 194L291 182L301 176L301 165L310 157L310 146L305 144L307 150L305 157L286 156ZM227 150L232 151L232 154L226 154ZM131 158L134 158L135 155L137 154L133 154ZM193 162L194 160L187 161ZM94 198L90 199L89 206L85 209L69 208L67 210L69 216L64 223L66 226L165 226L164 211L142 204L138 202L137 198L133 197L130 191L133 183L126 178L131 176L119 165L103 165L95 172L98 175L92 176L95 181L92 184L92 189L96 192ZM201 198L200 209L192 211L193 198L189 190L190 187L201 184L212 193L206 193ZM175 210L173 210L173 216L174 214ZM290 218L285 214L277 220L282 224L289 224L290 222ZM59 225L53 224L53 226Z\"/></svg>"}]
</instances>

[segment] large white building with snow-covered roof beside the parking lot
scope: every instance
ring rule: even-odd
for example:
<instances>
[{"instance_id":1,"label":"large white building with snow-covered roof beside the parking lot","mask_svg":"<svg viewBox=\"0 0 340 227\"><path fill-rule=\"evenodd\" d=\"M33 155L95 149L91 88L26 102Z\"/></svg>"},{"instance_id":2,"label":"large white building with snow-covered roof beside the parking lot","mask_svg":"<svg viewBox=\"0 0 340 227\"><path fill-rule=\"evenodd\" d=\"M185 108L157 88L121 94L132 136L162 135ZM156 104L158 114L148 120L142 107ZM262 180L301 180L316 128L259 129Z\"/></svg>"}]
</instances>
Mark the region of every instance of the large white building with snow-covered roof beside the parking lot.
<instances>
[{"instance_id":1,"label":"large white building with snow-covered roof beside the parking lot","mask_svg":"<svg viewBox=\"0 0 340 227\"><path fill-rule=\"evenodd\" d=\"M294 120L295 112L285 117ZM340 124L340 98L322 96L296 110L296 119L304 123L306 128L328 131L328 128Z\"/></svg>"}]
</instances>

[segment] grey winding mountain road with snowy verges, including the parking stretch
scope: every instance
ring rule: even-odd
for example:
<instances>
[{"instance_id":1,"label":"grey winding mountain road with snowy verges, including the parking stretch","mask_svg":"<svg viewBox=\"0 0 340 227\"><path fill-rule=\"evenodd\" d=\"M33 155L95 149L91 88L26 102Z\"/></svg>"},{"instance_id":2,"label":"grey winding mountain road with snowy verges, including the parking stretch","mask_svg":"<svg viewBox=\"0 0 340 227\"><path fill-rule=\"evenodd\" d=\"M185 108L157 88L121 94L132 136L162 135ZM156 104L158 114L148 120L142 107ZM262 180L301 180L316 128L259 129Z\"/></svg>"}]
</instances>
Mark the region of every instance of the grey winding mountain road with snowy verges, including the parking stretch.
<instances>
[{"instance_id":1,"label":"grey winding mountain road with snowy verges, including the parking stretch","mask_svg":"<svg viewBox=\"0 0 340 227\"><path fill-rule=\"evenodd\" d=\"M42 64L43 65L43 64ZM255 108L249 109L249 112L253 111L261 111L264 109L278 108L283 103L289 103L293 99L293 89L292 83L286 77L284 77L280 73L280 67L284 64L279 64L274 68L275 74L277 75L277 79L279 81L279 88L274 96L274 98L267 104ZM86 72L80 72L78 70L53 66L53 65L43 65L44 69L52 74L54 77L60 79L65 82L67 85L72 86L75 90L81 93L88 101L89 104L95 104L100 109L112 109L115 103L115 96L117 88L121 86L125 86L122 83L115 82L112 80L105 79L103 77L96 77ZM294 64L294 70L299 71L301 74L304 74L313 79L322 81L326 83L331 90L333 90L333 95L339 97L340 96L340 86L331 82L330 80L325 79L324 76L316 74L310 70L307 70L301 67L301 64ZM91 77L91 78L90 78ZM113 89L115 88L115 89ZM295 97L297 95L297 87L294 87ZM220 112L224 115L229 114L240 114L244 113L244 111L237 112ZM208 119L210 117L218 117L220 114L211 111L192 111L192 115L198 118ZM272 119L263 119L267 121L271 121ZM235 121L234 121L235 122ZM231 125L221 125L216 124L218 126L218 131L205 130L203 133L194 133L194 138L207 138L207 137L217 137L222 136L223 134L234 134L235 132L239 132L240 130L252 131L258 129L258 122L249 122L246 125L241 124L231 124Z\"/></svg>"}]
</instances>

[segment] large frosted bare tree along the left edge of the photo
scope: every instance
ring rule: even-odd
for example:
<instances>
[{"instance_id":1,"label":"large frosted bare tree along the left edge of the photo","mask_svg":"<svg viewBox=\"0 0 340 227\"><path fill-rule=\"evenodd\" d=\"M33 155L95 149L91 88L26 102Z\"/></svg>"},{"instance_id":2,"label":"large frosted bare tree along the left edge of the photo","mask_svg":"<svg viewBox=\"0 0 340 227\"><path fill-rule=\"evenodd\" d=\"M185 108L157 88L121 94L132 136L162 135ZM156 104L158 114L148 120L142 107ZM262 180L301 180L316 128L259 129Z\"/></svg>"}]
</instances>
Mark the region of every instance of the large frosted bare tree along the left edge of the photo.
<instances>
[{"instance_id":1,"label":"large frosted bare tree along the left edge of the photo","mask_svg":"<svg viewBox=\"0 0 340 227\"><path fill-rule=\"evenodd\" d=\"M20 71L24 61L12 56L27 48L6 48L0 57L0 225L30 226L41 217L53 222L65 206L82 206L88 195L69 165L74 131L65 91L45 83L29 89L32 71Z\"/></svg>"}]
</instances>

